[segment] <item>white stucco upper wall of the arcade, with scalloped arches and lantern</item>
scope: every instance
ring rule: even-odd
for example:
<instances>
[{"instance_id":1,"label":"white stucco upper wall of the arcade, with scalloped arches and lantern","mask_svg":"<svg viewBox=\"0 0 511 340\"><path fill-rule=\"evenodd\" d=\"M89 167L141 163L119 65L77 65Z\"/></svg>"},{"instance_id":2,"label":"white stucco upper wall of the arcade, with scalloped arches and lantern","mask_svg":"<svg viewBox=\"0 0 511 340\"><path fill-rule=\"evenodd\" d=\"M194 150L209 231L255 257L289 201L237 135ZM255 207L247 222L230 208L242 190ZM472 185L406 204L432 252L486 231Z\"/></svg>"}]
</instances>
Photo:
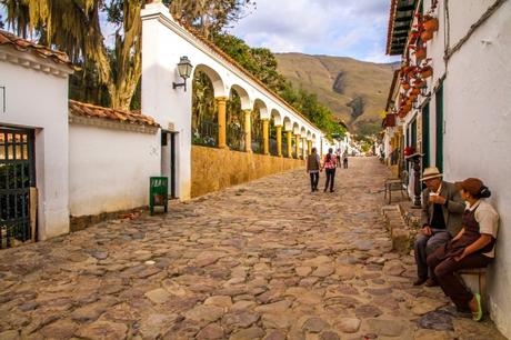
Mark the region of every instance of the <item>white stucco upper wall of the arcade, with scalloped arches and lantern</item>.
<instances>
[{"instance_id":1,"label":"white stucco upper wall of the arcade, with scalloped arches and lantern","mask_svg":"<svg viewBox=\"0 0 511 340\"><path fill-rule=\"evenodd\" d=\"M216 52L179 27L161 3L147 4L142 10L142 112L153 117L162 129L173 123L177 136L177 196L190 198L191 188L191 93L192 81L188 80L188 90L172 89L172 82L182 82L177 71L180 57L187 56L194 68L204 67L212 71L216 97L229 97L236 87L244 91L242 109L252 109L259 100L264 103L262 118L269 118L278 111L280 119L288 118L291 126L305 128L305 133L317 136L314 147L321 148L322 132L279 102L268 91L262 90L253 80L227 63ZM193 70L194 71L194 70ZM211 77L210 77L211 78Z\"/></svg>"}]
</instances>

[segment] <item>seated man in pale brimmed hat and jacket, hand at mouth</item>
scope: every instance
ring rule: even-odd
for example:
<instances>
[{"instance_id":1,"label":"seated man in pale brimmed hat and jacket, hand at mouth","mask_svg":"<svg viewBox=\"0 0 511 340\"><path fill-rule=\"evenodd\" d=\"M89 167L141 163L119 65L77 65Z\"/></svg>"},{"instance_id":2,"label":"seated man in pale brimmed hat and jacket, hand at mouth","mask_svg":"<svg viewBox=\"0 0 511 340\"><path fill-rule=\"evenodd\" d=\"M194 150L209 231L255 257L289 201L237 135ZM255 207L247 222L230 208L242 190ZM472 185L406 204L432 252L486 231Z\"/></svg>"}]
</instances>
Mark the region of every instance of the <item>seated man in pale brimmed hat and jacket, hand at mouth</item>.
<instances>
[{"instance_id":1,"label":"seated man in pale brimmed hat and jacket, hand at mouth","mask_svg":"<svg viewBox=\"0 0 511 340\"><path fill-rule=\"evenodd\" d=\"M420 286L437 286L429 272L427 258L439 247L444 246L461 229L461 216L464 202L453 183L442 180L442 173L435 168L427 168L422 174L425 189L422 191L422 229L415 238L414 253L418 278L413 282Z\"/></svg>"}]
</instances>

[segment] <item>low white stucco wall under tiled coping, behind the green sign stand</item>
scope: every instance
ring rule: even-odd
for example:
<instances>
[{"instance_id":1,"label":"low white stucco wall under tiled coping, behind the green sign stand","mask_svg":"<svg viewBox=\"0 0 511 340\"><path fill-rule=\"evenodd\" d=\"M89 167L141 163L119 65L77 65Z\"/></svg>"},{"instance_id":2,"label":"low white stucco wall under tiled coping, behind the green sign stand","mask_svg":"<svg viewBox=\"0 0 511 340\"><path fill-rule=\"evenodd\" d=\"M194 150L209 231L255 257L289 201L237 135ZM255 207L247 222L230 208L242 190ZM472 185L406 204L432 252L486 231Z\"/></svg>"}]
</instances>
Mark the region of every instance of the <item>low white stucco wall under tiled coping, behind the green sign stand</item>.
<instances>
[{"instance_id":1,"label":"low white stucco wall under tiled coping, behind the green sign stand","mask_svg":"<svg viewBox=\"0 0 511 340\"><path fill-rule=\"evenodd\" d=\"M70 124L69 193L72 217L149 203L149 177L160 176L159 133Z\"/></svg>"}]
</instances>

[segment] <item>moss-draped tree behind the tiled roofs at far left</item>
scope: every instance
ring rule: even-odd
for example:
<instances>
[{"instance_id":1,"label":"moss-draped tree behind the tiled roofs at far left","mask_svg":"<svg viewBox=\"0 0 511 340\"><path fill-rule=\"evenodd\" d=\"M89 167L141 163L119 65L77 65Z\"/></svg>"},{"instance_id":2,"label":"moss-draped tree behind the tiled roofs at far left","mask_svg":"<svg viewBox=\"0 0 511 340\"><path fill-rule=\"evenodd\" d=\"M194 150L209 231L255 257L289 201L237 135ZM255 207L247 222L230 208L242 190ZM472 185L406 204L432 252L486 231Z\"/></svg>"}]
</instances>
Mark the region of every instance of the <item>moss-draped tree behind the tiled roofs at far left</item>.
<instances>
[{"instance_id":1,"label":"moss-draped tree behind the tiled roofs at far left","mask_svg":"<svg viewBox=\"0 0 511 340\"><path fill-rule=\"evenodd\" d=\"M140 78L140 9L142 0L2 0L7 21L23 38L68 53L80 66L84 84L103 86L110 106L128 109ZM114 24L114 46L104 44L100 11ZM86 87L87 88L87 87ZM74 93L79 100L90 93ZM92 100L99 102L99 98Z\"/></svg>"}]
</instances>

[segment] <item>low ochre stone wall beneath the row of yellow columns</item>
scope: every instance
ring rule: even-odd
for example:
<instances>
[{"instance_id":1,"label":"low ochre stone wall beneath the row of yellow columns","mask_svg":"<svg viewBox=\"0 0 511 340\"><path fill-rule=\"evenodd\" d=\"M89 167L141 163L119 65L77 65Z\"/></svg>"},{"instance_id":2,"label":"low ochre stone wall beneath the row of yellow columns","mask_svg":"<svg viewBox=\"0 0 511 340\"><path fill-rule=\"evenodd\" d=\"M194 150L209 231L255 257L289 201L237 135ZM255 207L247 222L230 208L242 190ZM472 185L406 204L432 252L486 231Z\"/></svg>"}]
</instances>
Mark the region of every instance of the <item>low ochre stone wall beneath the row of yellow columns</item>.
<instances>
[{"instance_id":1,"label":"low ochre stone wall beneath the row of yellow columns","mask_svg":"<svg viewBox=\"0 0 511 340\"><path fill-rule=\"evenodd\" d=\"M304 167L303 160L192 146L191 197Z\"/></svg>"}]
</instances>

